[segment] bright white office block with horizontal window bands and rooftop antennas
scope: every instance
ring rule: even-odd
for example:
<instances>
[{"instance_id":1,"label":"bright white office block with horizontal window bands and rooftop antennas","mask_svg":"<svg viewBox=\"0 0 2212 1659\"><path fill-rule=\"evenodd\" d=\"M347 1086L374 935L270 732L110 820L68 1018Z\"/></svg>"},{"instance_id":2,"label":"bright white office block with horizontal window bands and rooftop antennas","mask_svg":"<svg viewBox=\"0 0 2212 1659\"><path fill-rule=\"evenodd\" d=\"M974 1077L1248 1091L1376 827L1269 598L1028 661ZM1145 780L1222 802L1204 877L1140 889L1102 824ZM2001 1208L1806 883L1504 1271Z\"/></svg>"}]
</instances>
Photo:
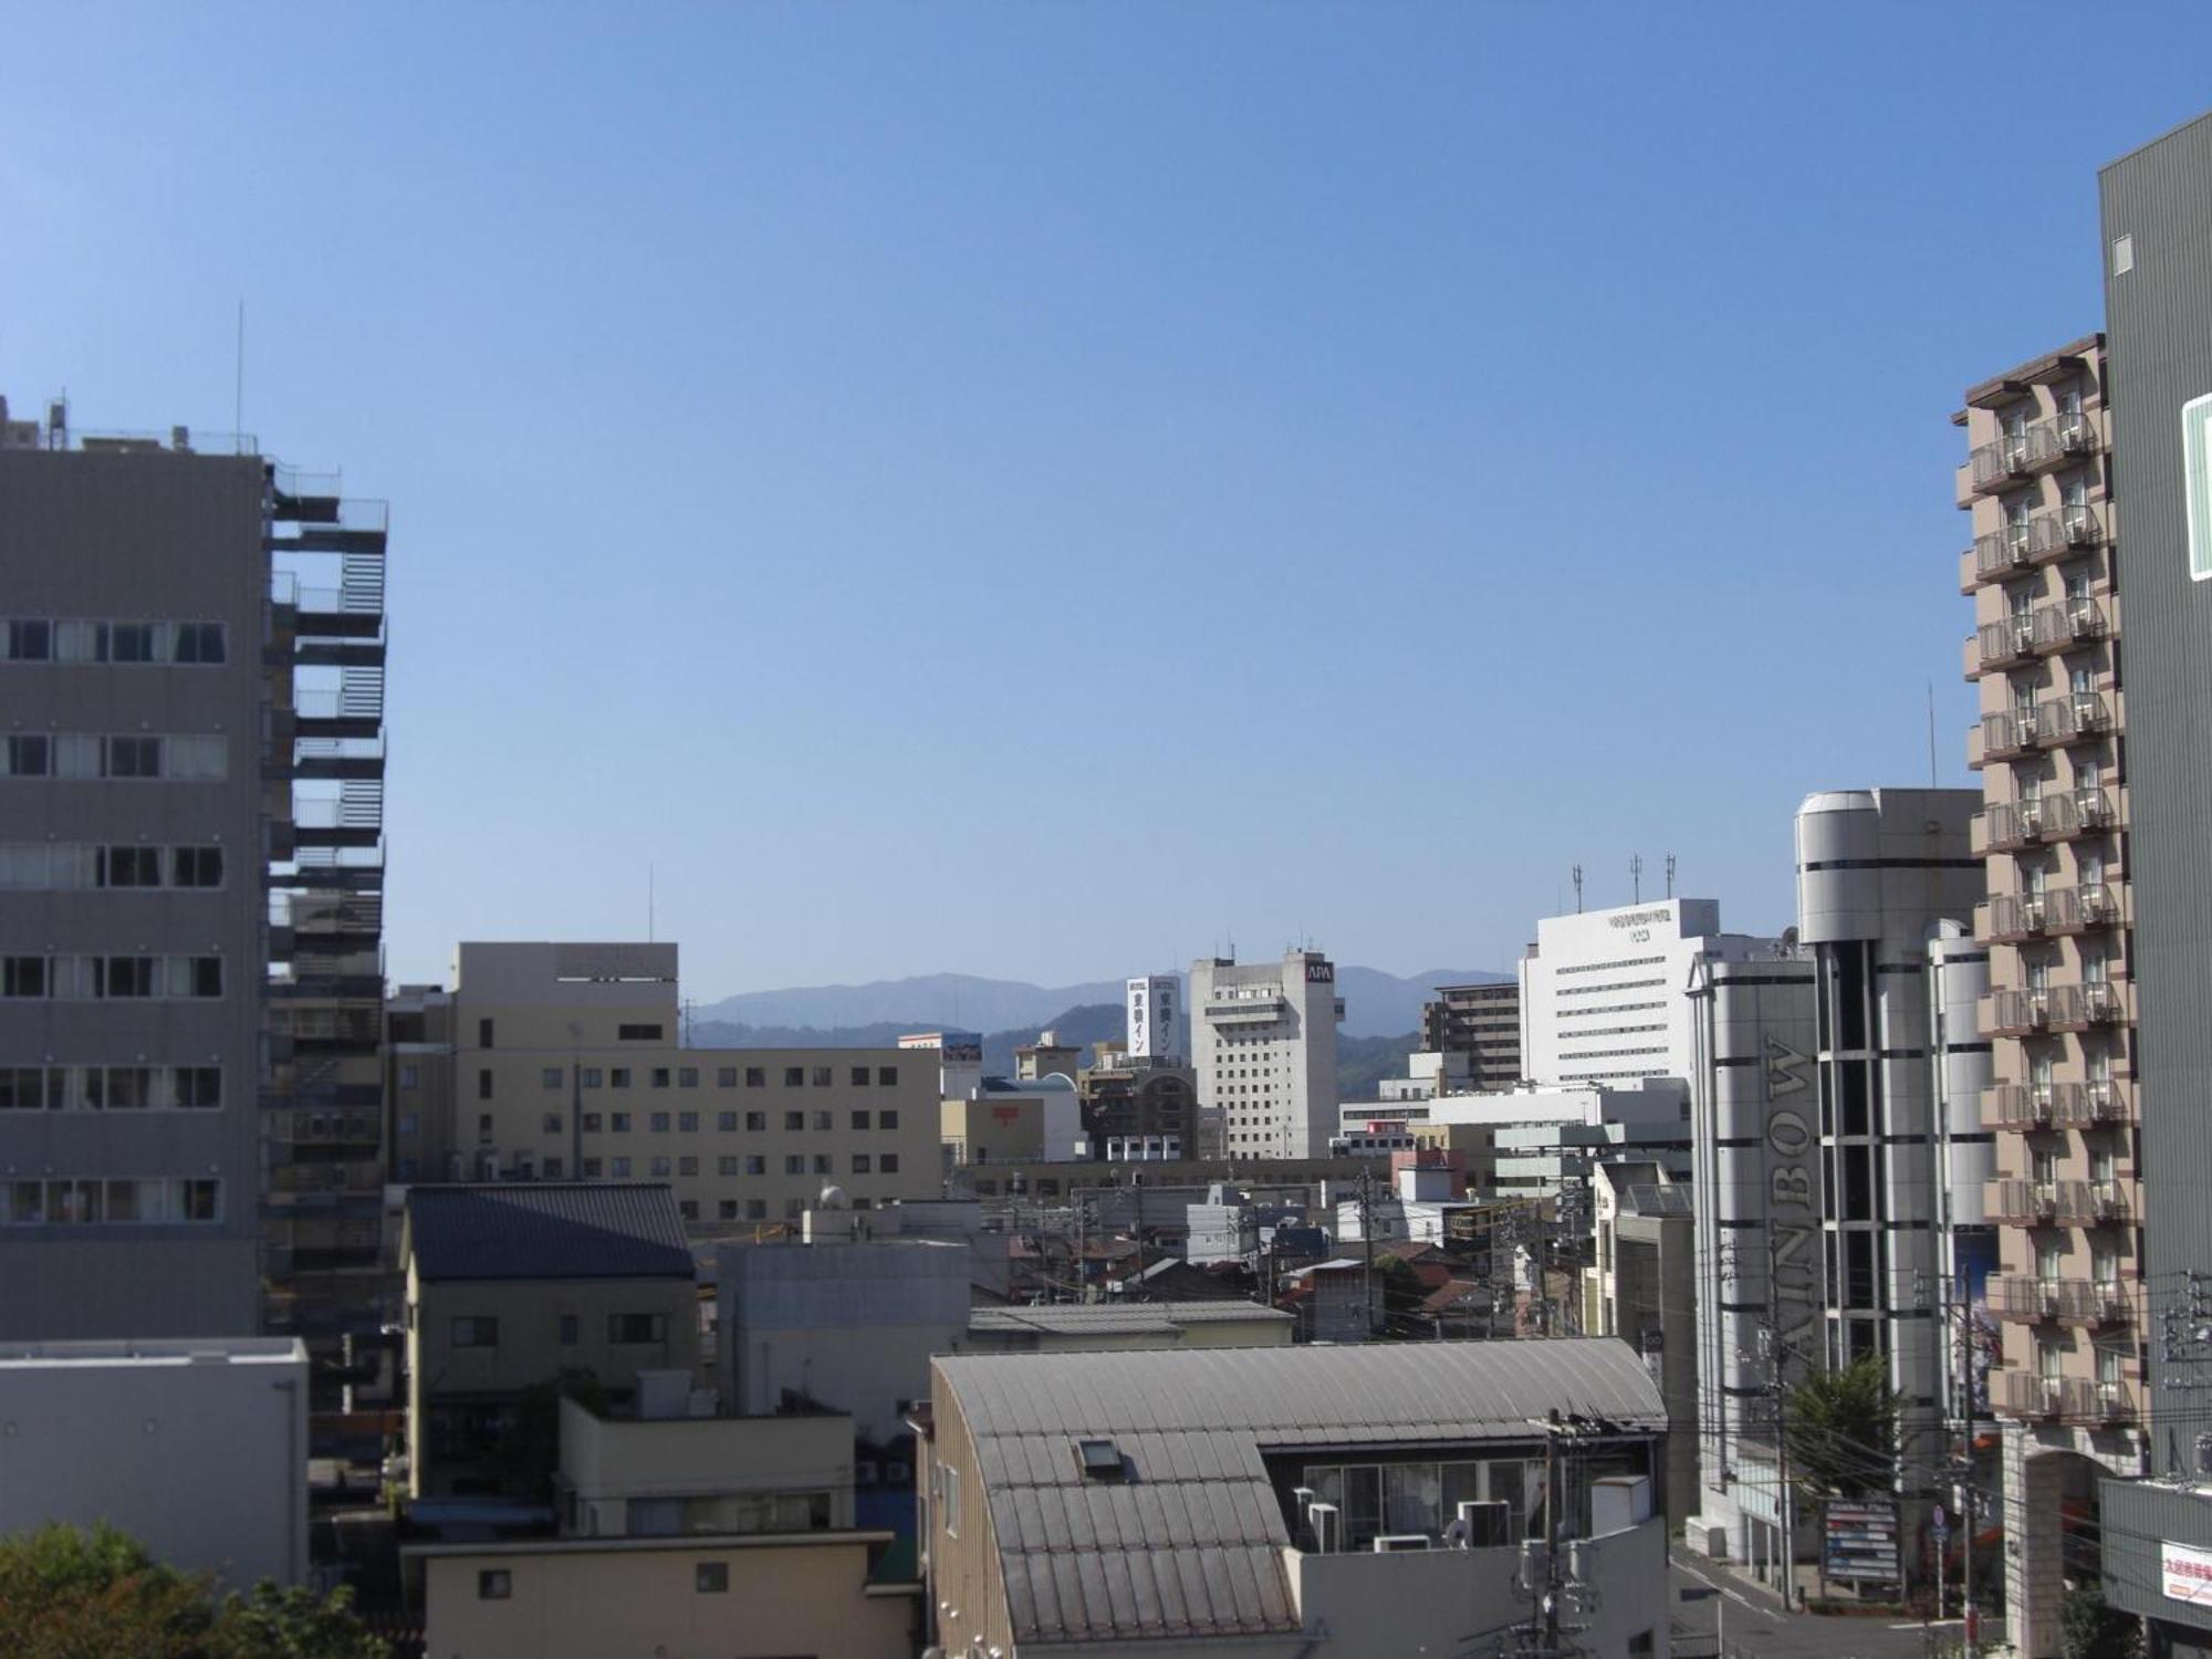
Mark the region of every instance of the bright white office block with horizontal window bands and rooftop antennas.
<instances>
[{"instance_id":1,"label":"bright white office block with horizontal window bands and rooftop antennas","mask_svg":"<svg viewBox=\"0 0 2212 1659\"><path fill-rule=\"evenodd\" d=\"M1546 916L1520 964L1522 1073L1537 1084L1599 1088L1690 1077L1690 964L1774 958L1781 949L1781 940L1723 933L1714 898Z\"/></svg>"}]
</instances>

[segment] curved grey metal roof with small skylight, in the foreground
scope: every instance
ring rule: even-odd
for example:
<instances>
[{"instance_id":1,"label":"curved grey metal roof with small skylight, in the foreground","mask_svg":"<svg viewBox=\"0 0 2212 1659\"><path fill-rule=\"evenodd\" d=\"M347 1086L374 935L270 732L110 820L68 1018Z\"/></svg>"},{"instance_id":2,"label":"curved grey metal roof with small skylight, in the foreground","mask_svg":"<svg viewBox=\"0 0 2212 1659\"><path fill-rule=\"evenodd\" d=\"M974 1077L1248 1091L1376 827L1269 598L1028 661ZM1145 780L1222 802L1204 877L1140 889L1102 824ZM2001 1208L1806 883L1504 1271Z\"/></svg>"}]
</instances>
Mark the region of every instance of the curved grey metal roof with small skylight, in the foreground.
<instances>
[{"instance_id":1,"label":"curved grey metal roof with small skylight, in the foreground","mask_svg":"<svg viewBox=\"0 0 2212 1659\"><path fill-rule=\"evenodd\" d=\"M936 1369L975 1436L1015 1641L1296 1630L1263 1451L1526 1440L1551 1409L1666 1429L1659 1389L1615 1338L975 1354ZM1073 1442L1093 1436L1117 1444L1126 1482L1082 1475Z\"/></svg>"}]
</instances>

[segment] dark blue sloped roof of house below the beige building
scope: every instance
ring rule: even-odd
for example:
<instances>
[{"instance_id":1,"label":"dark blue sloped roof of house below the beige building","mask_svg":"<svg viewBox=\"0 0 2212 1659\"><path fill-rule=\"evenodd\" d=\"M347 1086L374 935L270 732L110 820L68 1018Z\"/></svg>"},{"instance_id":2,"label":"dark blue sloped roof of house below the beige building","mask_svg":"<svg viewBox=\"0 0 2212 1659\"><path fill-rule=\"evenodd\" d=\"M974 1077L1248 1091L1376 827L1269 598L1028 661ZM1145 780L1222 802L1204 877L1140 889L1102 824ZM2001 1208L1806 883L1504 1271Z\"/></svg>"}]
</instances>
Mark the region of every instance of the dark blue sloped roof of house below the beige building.
<instances>
[{"instance_id":1,"label":"dark blue sloped roof of house below the beige building","mask_svg":"<svg viewBox=\"0 0 2212 1659\"><path fill-rule=\"evenodd\" d=\"M407 1190L422 1279L695 1279L666 1181L515 1181Z\"/></svg>"}]
</instances>

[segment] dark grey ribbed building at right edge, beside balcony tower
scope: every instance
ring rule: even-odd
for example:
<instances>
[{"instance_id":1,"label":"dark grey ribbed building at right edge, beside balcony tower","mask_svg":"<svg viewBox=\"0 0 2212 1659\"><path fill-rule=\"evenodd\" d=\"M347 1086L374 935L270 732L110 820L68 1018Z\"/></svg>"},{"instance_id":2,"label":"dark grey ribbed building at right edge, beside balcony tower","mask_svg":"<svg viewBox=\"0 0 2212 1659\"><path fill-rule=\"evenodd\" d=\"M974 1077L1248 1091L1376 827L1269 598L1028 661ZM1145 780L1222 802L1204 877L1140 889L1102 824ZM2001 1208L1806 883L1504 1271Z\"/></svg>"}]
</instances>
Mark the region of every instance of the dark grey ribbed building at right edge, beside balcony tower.
<instances>
[{"instance_id":1,"label":"dark grey ribbed building at right edge, beside balcony tower","mask_svg":"<svg viewBox=\"0 0 2212 1659\"><path fill-rule=\"evenodd\" d=\"M2212 872L2201 827L2212 781L2212 117L2190 122L2104 168L2101 248L2110 343L2112 493L2126 504L2112 568L2128 595L2126 776L2115 805L2126 827L2126 982L2115 1000L2137 1018L2135 1121L2112 1124L2112 1177L2141 1181L2141 1318L2130 1360L2143 1385L2132 1420L2143 1431L2150 1473L2201 1480L2201 1433L2212 1409ZM2117 699L2115 699L2117 701ZM2070 1148L2068 1148L2070 1150ZM2115 1243L2126 1225L2110 1225ZM2126 1245L2119 1243L2124 1252ZM2126 1256L2121 1254L2121 1261ZM2115 1332L2115 1338L2121 1332ZM2077 1336L2079 1340L2079 1336ZM2112 1340L2112 1349L2121 1343ZM2104 1363L2104 1360L2099 1360ZM2130 1385L2132 1387L2132 1385ZM2097 1413L2108 1407L2095 1396ZM2126 1425L2126 1418L2121 1418ZM2115 1425L2115 1427L2121 1427ZM2159 1555L2150 1586L2126 1562L2106 1564L2108 1593L2152 1617L2152 1637L2172 1652L2212 1646L2212 1610L2177 1588L2212 1573L2212 1515L2201 1502L2128 1491L2106 1520L2150 1537ZM2033 1489L2028 1498L2033 1500ZM2139 1540L2130 1537L2130 1544ZM2190 1573L2194 1568L2194 1575ZM2157 1590L2154 1595L2150 1590Z\"/></svg>"}]
</instances>

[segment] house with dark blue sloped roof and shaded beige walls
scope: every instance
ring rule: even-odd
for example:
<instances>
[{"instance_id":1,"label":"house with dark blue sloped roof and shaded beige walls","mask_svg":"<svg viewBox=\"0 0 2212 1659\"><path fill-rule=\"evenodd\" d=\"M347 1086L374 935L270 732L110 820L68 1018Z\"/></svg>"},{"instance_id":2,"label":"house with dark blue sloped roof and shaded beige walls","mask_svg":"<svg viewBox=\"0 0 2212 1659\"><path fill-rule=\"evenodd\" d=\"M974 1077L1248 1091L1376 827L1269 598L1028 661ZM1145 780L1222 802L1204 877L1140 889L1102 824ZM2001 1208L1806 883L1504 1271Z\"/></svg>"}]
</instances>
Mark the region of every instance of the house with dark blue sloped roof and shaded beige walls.
<instances>
[{"instance_id":1,"label":"house with dark blue sloped roof and shaded beige walls","mask_svg":"<svg viewBox=\"0 0 2212 1659\"><path fill-rule=\"evenodd\" d=\"M407 1274L409 1495L498 1491L538 1385L699 1369L699 1274L666 1186L418 1186ZM544 1471L551 1473L551 1471Z\"/></svg>"}]
</instances>

